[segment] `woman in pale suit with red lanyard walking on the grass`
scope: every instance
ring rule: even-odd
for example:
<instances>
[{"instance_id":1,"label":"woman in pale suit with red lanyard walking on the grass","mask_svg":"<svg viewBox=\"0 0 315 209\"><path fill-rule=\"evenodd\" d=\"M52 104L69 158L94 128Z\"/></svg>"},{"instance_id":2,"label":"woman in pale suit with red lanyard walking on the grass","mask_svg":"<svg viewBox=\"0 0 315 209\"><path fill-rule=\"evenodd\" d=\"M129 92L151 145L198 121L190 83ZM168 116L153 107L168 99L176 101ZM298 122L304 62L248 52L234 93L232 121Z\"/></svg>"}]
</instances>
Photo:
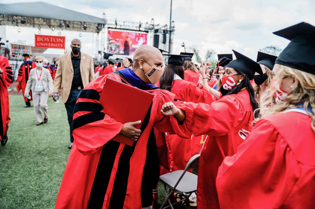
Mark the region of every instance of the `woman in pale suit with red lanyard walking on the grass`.
<instances>
[{"instance_id":1,"label":"woman in pale suit with red lanyard walking on the grass","mask_svg":"<svg viewBox=\"0 0 315 209\"><path fill-rule=\"evenodd\" d=\"M42 56L35 57L35 63L37 67L30 71L25 88L27 91L25 92L31 90L35 115L37 118L36 126L39 126L48 121L47 99L48 97L51 97L53 92L53 79L51 78L49 70L43 67ZM25 96L30 97L28 94ZM40 108L44 112L44 120Z\"/></svg>"}]
</instances>

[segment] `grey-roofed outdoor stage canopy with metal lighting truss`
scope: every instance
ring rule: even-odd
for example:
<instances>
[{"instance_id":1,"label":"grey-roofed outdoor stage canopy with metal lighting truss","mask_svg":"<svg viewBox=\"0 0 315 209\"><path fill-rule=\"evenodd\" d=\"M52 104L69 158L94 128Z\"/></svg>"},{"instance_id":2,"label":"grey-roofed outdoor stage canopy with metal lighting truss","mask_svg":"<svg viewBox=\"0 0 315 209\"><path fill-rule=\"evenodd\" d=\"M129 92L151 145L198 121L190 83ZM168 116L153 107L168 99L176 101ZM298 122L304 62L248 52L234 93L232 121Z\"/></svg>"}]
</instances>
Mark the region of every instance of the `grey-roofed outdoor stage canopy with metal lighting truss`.
<instances>
[{"instance_id":1,"label":"grey-roofed outdoor stage canopy with metal lighting truss","mask_svg":"<svg viewBox=\"0 0 315 209\"><path fill-rule=\"evenodd\" d=\"M148 22L117 21L117 19L106 20L105 13L103 13L102 18L98 18L44 2L0 4L0 24L17 26L19 29L20 27L38 28L39 34L42 28L53 31L57 29L96 33L95 42L93 40L95 43L95 50L93 51L95 51L96 59L98 54L108 52L108 30L147 33L148 44L165 51L168 51L169 47L172 48L175 30L174 22L168 28L167 25L154 24L154 19L151 20L150 24Z\"/></svg>"}]
</instances>

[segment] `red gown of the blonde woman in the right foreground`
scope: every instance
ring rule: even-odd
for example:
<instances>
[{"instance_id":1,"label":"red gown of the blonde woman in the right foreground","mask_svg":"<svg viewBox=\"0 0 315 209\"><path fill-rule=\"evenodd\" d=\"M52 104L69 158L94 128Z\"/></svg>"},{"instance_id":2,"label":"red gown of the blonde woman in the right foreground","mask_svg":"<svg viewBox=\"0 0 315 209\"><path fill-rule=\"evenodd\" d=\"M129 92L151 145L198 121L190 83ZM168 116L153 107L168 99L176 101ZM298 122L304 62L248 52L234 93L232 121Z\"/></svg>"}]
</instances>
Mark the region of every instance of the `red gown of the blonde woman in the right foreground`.
<instances>
[{"instance_id":1,"label":"red gown of the blonde woman in the right foreground","mask_svg":"<svg viewBox=\"0 0 315 209\"><path fill-rule=\"evenodd\" d=\"M261 119L219 168L221 209L315 206L315 133L298 112Z\"/></svg>"}]
</instances>

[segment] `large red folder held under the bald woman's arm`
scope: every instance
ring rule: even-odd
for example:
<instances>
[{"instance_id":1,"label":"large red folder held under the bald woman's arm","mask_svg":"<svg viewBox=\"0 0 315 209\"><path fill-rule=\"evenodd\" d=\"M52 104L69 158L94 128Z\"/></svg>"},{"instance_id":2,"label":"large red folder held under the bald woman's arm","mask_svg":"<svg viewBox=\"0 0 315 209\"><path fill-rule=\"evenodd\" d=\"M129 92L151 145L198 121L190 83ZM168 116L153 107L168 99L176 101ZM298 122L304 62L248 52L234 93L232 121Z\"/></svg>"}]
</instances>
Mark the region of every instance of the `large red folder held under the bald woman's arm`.
<instances>
[{"instance_id":1,"label":"large red folder held under the bald woman's arm","mask_svg":"<svg viewBox=\"0 0 315 209\"><path fill-rule=\"evenodd\" d=\"M112 78L107 78L100 95L100 104L104 107L105 114L114 118L117 122L128 123L141 121L146 116L154 95L119 82ZM135 128L140 129L141 124ZM132 146L134 141L118 134L112 140Z\"/></svg>"}]
</instances>

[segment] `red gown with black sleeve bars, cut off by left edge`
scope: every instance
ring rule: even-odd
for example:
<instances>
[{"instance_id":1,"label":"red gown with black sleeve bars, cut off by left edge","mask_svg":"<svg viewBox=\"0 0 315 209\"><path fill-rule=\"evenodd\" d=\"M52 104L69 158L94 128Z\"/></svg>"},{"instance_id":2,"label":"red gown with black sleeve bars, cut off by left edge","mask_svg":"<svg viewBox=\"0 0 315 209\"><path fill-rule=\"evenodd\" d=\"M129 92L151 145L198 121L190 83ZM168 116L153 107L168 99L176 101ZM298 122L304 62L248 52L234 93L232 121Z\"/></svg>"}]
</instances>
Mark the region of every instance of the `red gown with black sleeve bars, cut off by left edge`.
<instances>
[{"instance_id":1,"label":"red gown with black sleeve bars, cut off by left edge","mask_svg":"<svg viewBox=\"0 0 315 209\"><path fill-rule=\"evenodd\" d=\"M0 67L2 69L2 77L0 78L0 139L7 133L9 129L9 94L8 87L12 84L12 70L6 57L0 56Z\"/></svg>"}]
</instances>

